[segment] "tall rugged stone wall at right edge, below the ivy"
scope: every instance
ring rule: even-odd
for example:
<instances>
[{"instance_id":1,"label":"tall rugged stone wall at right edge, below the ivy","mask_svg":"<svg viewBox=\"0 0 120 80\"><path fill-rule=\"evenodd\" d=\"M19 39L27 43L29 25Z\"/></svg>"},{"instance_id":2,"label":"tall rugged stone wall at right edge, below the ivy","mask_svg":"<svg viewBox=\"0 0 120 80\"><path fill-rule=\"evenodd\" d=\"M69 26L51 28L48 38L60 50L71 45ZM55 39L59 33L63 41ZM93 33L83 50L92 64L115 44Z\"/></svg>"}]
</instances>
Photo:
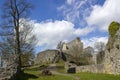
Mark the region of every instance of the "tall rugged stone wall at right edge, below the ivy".
<instances>
[{"instance_id":1,"label":"tall rugged stone wall at right edge, below the ivy","mask_svg":"<svg viewBox=\"0 0 120 80\"><path fill-rule=\"evenodd\" d=\"M120 29L109 37L103 64L105 73L120 74Z\"/></svg>"}]
</instances>

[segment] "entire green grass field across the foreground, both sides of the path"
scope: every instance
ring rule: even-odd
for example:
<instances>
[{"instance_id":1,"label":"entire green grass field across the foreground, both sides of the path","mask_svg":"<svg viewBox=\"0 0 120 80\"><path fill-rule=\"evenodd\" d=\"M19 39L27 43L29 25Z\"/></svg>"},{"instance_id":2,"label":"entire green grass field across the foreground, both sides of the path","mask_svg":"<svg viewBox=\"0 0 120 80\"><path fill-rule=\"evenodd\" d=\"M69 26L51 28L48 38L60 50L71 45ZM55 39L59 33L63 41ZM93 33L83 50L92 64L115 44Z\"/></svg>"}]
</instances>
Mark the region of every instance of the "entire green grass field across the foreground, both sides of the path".
<instances>
[{"instance_id":1,"label":"entire green grass field across the foreground, both sides of the path","mask_svg":"<svg viewBox=\"0 0 120 80\"><path fill-rule=\"evenodd\" d=\"M63 75L53 74L52 76L41 76L42 69L43 68L39 68L38 66L25 69L24 73L19 76L18 80L78 80L77 78L80 78L80 80L120 80L120 75L94 73L77 73L66 75L63 73Z\"/></svg>"}]
</instances>

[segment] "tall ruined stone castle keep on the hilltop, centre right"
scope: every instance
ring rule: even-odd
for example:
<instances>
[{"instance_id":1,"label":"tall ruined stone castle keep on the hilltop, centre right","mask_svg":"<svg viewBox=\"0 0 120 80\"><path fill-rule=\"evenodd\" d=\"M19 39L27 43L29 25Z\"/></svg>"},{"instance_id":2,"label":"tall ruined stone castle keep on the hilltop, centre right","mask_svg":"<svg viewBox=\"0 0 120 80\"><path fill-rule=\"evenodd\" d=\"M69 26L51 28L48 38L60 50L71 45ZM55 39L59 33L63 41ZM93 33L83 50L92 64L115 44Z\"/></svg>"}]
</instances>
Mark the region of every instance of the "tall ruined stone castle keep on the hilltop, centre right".
<instances>
[{"instance_id":1,"label":"tall ruined stone castle keep on the hilltop, centre right","mask_svg":"<svg viewBox=\"0 0 120 80\"><path fill-rule=\"evenodd\" d=\"M64 43L62 51L66 55L67 61L73 61L74 56L83 54L87 57L87 64L96 64L96 55L93 54L94 49L90 46L84 48L83 42L78 37L68 43Z\"/></svg>"}]
</instances>

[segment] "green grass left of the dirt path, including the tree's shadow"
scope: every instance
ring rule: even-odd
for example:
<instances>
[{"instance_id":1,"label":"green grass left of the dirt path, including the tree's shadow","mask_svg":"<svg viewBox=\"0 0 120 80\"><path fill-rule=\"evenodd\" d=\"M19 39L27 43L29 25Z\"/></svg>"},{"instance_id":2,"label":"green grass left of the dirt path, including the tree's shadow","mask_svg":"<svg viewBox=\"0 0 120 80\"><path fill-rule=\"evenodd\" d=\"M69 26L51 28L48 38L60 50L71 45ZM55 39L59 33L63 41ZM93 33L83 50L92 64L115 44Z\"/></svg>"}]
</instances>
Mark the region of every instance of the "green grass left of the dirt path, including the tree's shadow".
<instances>
[{"instance_id":1,"label":"green grass left of the dirt path, including the tree's shadow","mask_svg":"<svg viewBox=\"0 0 120 80\"><path fill-rule=\"evenodd\" d=\"M46 67L46 66L45 66ZM24 70L18 76L18 80L74 80L72 76L52 75L52 76L41 76L41 71L45 67L39 69L39 66L30 67Z\"/></svg>"}]
</instances>

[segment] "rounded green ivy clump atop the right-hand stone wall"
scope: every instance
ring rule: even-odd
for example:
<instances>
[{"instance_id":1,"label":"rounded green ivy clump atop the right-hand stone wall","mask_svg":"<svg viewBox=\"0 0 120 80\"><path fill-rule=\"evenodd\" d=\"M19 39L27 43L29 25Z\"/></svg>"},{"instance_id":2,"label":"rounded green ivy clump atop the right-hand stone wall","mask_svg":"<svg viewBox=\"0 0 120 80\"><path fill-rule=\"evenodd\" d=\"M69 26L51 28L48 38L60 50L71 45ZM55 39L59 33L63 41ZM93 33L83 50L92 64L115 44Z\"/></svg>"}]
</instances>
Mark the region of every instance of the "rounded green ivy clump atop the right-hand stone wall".
<instances>
[{"instance_id":1,"label":"rounded green ivy clump atop the right-hand stone wall","mask_svg":"<svg viewBox=\"0 0 120 80\"><path fill-rule=\"evenodd\" d=\"M120 24L118 22L111 22L111 24L109 25L108 31L111 37L113 37L116 32L119 30L120 28Z\"/></svg>"}]
</instances>

